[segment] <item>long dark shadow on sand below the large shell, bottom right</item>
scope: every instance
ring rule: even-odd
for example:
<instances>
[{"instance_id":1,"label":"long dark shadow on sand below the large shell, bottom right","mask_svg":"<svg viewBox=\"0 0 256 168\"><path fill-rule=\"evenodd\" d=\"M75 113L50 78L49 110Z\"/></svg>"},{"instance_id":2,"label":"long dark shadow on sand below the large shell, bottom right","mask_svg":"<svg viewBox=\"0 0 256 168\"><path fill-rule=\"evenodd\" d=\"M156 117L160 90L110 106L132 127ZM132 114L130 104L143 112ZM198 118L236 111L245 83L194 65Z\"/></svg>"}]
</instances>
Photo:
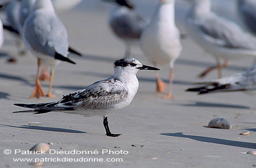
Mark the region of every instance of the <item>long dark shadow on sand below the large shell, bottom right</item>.
<instances>
[{"instance_id":1,"label":"long dark shadow on sand below the large shell, bottom right","mask_svg":"<svg viewBox=\"0 0 256 168\"><path fill-rule=\"evenodd\" d=\"M161 133L160 135L171 136L171 137L189 138L189 139L193 139L195 141L200 141L200 142L205 142L205 143L216 143L216 144L235 146L235 147L241 147L241 148L256 149L256 143L232 141L232 140L220 139L220 138L214 138L214 137L202 137L202 136L194 136L194 135L184 135L183 132Z\"/></svg>"}]
</instances>

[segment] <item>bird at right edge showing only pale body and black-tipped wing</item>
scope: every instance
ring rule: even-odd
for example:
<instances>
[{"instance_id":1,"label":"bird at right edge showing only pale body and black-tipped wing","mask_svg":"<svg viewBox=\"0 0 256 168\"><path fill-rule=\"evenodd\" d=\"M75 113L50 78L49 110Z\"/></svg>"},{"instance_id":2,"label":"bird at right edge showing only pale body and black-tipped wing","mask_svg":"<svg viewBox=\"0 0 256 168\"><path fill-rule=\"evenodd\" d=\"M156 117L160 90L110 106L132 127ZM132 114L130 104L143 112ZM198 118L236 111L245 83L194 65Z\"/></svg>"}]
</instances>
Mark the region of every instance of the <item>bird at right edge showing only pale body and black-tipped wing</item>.
<instances>
[{"instance_id":1,"label":"bird at right edge showing only pale body and black-tipped wing","mask_svg":"<svg viewBox=\"0 0 256 168\"><path fill-rule=\"evenodd\" d=\"M256 64L236 75L195 84L204 86L189 88L187 91L198 92L198 94L232 91L251 93L251 91L256 90Z\"/></svg>"}]
</instances>

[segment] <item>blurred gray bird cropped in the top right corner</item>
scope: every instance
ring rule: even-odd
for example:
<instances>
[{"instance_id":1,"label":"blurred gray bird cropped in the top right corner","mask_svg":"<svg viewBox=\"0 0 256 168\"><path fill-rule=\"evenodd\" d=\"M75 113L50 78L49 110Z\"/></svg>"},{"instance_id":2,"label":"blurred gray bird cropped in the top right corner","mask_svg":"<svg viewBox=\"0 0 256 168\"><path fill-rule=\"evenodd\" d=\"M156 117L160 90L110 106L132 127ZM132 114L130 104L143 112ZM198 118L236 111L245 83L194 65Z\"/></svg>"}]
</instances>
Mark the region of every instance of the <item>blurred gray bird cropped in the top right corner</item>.
<instances>
[{"instance_id":1,"label":"blurred gray bird cropped in the top right corner","mask_svg":"<svg viewBox=\"0 0 256 168\"><path fill-rule=\"evenodd\" d=\"M238 12L242 15L243 21L256 35L256 0L238 0Z\"/></svg>"}]
</instances>

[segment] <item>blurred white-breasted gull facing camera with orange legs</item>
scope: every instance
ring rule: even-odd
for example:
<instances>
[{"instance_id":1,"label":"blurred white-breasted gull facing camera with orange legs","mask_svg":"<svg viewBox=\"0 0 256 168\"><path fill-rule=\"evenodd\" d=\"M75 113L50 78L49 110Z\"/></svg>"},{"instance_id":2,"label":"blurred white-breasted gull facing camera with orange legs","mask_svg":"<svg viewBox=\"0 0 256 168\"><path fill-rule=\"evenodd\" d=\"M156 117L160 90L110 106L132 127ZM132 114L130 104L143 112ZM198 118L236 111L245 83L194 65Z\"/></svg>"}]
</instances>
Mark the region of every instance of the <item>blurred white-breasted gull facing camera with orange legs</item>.
<instances>
[{"instance_id":1,"label":"blurred white-breasted gull facing camera with orange legs","mask_svg":"<svg viewBox=\"0 0 256 168\"><path fill-rule=\"evenodd\" d=\"M165 98L173 98L173 68L175 60L182 52L180 31L175 25L175 0L160 0L151 22L141 34L141 49L145 56L156 64L170 67L169 90ZM156 93L164 93L166 84L156 76Z\"/></svg>"}]
</instances>

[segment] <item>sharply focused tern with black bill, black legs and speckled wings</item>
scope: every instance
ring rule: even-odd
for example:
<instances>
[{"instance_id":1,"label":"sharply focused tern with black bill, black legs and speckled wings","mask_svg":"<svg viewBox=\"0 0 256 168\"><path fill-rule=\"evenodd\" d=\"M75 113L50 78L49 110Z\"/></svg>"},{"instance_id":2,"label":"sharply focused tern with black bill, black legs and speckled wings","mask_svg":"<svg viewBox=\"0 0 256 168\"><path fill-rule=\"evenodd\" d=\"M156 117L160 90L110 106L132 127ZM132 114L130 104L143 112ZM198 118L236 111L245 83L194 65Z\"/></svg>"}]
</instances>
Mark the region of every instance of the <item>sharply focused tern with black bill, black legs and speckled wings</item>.
<instances>
[{"instance_id":1,"label":"sharply focused tern with black bill, black legs and speckled wings","mask_svg":"<svg viewBox=\"0 0 256 168\"><path fill-rule=\"evenodd\" d=\"M80 114L85 117L100 115L106 135L118 137L121 134L112 134L108 128L108 114L128 106L139 87L136 74L139 70L160 70L142 65L135 58L124 58L114 62L114 76L96 81L85 89L64 95L61 100L50 103L14 104L15 106L32 108L33 110L20 112L65 112Z\"/></svg>"}]
</instances>

